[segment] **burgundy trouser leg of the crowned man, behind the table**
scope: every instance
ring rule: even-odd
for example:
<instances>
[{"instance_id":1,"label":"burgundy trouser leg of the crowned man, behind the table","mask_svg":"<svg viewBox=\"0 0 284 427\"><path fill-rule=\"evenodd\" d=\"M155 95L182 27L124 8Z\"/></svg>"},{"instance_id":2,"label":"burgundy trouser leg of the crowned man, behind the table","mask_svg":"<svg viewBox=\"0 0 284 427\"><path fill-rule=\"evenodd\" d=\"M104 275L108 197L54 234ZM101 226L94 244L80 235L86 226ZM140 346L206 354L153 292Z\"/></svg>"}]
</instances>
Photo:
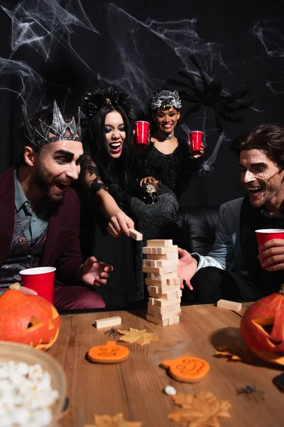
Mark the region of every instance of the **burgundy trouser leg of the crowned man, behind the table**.
<instances>
[{"instance_id":1,"label":"burgundy trouser leg of the crowned man, behind the table","mask_svg":"<svg viewBox=\"0 0 284 427\"><path fill-rule=\"evenodd\" d=\"M54 305L59 310L82 310L106 306L101 295L92 289L58 285L54 288Z\"/></svg>"}]
</instances>

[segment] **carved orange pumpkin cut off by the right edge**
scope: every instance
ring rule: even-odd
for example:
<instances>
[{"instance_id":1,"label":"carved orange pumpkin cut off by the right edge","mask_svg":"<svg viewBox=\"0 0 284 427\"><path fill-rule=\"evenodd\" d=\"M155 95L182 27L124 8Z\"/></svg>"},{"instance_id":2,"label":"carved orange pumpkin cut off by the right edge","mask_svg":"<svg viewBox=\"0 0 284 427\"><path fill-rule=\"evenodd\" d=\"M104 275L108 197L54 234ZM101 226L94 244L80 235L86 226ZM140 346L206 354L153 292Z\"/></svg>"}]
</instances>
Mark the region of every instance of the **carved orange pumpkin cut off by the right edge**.
<instances>
[{"instance_id":1,"label":"carved orange pumpkin cut off by the right edge","mask_svg":"<svg viewBox=\"0 0 284 427\"><path fill-rule=\"evenodd\" d=\"M284 365L284 285L246 310L241 336L260 359Z\"/></svg>"}]
</instances>

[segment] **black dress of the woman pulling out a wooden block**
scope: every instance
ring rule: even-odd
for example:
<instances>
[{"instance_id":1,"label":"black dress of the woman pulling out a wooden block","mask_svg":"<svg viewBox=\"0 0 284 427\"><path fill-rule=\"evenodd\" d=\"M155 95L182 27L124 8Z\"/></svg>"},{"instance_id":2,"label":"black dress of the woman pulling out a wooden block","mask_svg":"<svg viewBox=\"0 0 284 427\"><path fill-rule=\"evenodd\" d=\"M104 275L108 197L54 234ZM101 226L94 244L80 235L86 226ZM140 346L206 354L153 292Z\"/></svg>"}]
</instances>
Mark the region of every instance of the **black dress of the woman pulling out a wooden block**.
<instances>
[{"instance_id":1,"label":"black dress of the woman pulling out a wooden block","mask_svg":"<svg viewBox=\"0 0 284 427\"><path fill-rule=\"evenodd\" d=\"M93 168L92 174L94 171ZM97 287L96 291L102 295L107 307L125 307L129 302L136 300L137 294L133 265L135 256L133 241L124 234L118 238L109 235L108 221L102 215L94 199L97 191L104 189L114 197L116 203L124 211L127 211L126 205L129 199L123 191L120 191L119 184L111 184L111 174L109 182L104 184L100 179L99 171L95 172L97 173L94 175L95 179L90 191L84 188L84 184L80 185L80 191L77 188L81 201L80 241L82 252L84 258L94 255L97 260L114 267L107 284ZM84 177L82 177L83 180Z\"/></svg>"}]
</instances>

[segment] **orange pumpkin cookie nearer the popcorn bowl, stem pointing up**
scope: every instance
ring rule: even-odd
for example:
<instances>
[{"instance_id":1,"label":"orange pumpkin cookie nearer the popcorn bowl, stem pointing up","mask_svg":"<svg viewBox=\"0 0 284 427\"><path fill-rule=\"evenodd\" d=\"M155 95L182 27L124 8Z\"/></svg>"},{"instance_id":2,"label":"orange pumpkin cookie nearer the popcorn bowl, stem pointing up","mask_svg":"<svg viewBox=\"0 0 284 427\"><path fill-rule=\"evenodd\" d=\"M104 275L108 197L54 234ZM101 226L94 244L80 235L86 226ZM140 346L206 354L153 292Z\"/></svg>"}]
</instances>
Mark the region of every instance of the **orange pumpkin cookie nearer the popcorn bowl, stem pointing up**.
<instances>
[{"instance_id":1,"label":"orange pumpkin cookie nearer the popcorn bowl, stem pointing up","mask_svg":"<svg viewBox=\"0 0 284 427\"><path fill-rule=\"evenodd\" d=\"M95 363L119 363L129 357L129 349L108 341L107 344L91 347L87 357L90 362Z\"/></svg>"}]
</instances>

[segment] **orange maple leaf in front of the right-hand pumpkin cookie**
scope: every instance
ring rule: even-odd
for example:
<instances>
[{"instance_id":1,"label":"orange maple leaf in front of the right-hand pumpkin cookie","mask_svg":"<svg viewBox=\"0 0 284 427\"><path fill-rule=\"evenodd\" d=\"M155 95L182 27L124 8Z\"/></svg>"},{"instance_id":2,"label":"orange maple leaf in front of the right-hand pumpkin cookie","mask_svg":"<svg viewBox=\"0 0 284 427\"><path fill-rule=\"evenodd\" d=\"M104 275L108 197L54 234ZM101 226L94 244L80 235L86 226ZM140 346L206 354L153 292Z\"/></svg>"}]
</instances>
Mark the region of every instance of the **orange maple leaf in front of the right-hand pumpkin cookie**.
<instances>
[{"instance_id":1,"label":"orange maple leaf in front of the right-hand pumpkin cookie","mask_svg":"<svg viewBox=\"0 0 284 427\"><path fill-rule=\"evenodd\" d=\"M219 427L219 418L230 418L229 401L219 401L209 391L200 391L195 398L180 394L172 399L181 409L169 413L168 418L175 423L188 422L187 427Z\"/></svg>"}]
</instances>

